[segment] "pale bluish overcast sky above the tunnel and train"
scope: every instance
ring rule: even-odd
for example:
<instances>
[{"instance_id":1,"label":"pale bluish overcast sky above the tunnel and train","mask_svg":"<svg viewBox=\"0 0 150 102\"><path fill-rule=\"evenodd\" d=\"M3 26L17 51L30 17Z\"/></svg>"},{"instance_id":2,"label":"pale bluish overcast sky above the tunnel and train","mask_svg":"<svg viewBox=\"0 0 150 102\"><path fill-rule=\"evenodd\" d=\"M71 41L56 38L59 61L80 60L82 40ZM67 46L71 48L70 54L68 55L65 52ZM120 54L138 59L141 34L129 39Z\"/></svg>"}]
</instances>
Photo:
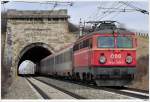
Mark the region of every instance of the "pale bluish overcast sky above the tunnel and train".
<instances>
[{"instance_id":1,"label":"pale bluish overcast sky above the tunnel and train","mask_svg":"<svg viewBox=\"0 0 150 102\"><path fill-rule=\"evenodd\" d=\"M148 11L148 0L128 2L131 5L145 9ZM19 10L50 10L53 8L52 4L39 4L39 3L23 3L23 2L9 2L2 5L4 9L19 9ZM55 9L67 9L68 15L70 15L70 21L74 24L79 24L80 18L84 21L89 20L116 20L123 23L126 28L134 29L140 32L148 32L148 15L141 12L113 12L103 13L104 10L98 9L98 7L107 8L126 8L132 9L125 6L117 1L73 1L73 6L58 5Z\"/></svg>"}]
</instances>

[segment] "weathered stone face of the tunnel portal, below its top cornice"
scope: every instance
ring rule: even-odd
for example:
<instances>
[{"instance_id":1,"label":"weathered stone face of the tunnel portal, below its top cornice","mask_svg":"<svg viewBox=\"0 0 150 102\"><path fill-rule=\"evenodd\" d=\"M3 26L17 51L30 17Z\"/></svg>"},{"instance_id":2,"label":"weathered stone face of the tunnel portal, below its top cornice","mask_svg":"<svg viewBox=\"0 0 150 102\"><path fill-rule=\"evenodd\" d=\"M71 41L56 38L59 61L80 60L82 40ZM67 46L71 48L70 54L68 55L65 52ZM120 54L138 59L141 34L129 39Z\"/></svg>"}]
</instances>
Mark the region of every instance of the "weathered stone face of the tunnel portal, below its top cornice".
<instances>
[{"instance_id":1,"label":"weathered stone face of the tunnel portal, below its top cornice","mask_svg":"<svg viewBox=\"0 0 150 102\"><path fill-rule=\"evenodd\" d=\"M48 21L48 19L43 19L42 21L35 21L8 19L7 28L10 29L12 53L8 53L7 50L10 46L6 44L5 55L6 59L8 59L8 56L12 56L11 69L15 73L18 56L26 46L32 43L42 42L49 45L53 52L55 52L76 40L74 34L68 30L67 20Z\"/></svg>"}]
</instances>

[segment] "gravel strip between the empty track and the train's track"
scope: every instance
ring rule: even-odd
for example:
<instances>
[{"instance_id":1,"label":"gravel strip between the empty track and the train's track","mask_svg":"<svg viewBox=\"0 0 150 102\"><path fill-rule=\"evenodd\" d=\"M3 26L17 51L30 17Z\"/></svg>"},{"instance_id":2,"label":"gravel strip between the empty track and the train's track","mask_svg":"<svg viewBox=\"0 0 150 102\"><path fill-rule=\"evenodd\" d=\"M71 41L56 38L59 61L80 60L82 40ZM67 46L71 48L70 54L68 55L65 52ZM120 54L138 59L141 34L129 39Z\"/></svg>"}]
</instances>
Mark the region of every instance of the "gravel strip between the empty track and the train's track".
<instances>
[{"instance_id":1,"label":"gravel strip between the empty track and the train's track","mask_svg":"<svg viewBox=\"0 0 150 102\"><path fill-rule=\"evenodd\" d=\"M81 95L88 99L133 99L125 95L120 95L120 94L116 94L104 90L97 90L86 86L77 85L77 84L64 82L60 80L55 80L55 79L50 79L45 77L37 77L37 79L44 80L50 84L56 85L57 87L61 87L67 91Z\"/></svg>"}]
</instances>

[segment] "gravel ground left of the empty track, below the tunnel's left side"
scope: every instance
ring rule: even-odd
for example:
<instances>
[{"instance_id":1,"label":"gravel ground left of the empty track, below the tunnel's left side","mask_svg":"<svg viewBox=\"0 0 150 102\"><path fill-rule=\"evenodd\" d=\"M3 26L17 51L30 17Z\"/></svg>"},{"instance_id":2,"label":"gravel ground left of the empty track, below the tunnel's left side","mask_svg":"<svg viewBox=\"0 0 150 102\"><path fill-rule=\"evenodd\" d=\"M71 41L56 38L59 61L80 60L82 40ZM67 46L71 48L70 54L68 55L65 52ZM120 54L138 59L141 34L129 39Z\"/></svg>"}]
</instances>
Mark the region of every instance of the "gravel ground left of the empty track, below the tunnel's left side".
<instances>
[{"instance_id":1,"label":"gravel ground left of the empty track, below the tunnel's left side","mask_svg":"<svg viewBox=\"0 0 150 102\"><path fill-rule=\"evenodd\" d=\"M23 77L17 77L9 87L4 99L39 99Z\"/></svg>"}]
</instances>

